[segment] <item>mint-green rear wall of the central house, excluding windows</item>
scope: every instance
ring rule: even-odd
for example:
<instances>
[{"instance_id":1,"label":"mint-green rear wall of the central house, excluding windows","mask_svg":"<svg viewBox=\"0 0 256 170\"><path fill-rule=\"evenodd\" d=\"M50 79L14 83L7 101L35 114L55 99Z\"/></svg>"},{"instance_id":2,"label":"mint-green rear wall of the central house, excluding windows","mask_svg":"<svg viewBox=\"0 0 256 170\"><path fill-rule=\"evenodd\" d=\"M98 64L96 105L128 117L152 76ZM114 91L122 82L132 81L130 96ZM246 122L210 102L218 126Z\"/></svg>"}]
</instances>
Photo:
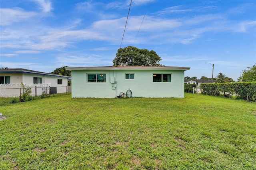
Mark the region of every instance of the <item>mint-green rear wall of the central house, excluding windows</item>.
<instances>
[{"instance_id":1,"label":"mint-green rear wall of the central house, excluding windows","mask_svg":"<svg viewBox=\"0 0 256 170\"><path fill-rule=\"evenodd\" d=\"M87 74L106 74L106 83L88 83ZM134 79L125 79L126 73ZM153 82L153 74L171 82ZM111 83L114 77L116 83ZM184 70L72 70L72 97L114 98L130 89L133 97L184 97Z\"/></svg>"}]
</instances>

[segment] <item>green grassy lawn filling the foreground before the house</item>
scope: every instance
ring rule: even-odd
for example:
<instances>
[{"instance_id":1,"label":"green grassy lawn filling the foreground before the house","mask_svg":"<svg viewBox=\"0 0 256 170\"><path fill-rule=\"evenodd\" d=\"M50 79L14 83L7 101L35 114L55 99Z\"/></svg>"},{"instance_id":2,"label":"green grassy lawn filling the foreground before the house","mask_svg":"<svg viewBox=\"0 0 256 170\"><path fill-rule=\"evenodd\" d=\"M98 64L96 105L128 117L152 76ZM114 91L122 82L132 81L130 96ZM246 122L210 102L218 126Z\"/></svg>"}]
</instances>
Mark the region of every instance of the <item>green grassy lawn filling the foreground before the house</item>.
<instances>
[{"instance_id":1,"label":"green grassy lawn filling the foreground before the house","mask_svg":"<svg viewBox=\"0 0 256 170\"><path fill-rule=\"evenodd\" d=\"M62 95L0 112L0 169L256 169L256 103Z\"/></svg>"}]
</instances>

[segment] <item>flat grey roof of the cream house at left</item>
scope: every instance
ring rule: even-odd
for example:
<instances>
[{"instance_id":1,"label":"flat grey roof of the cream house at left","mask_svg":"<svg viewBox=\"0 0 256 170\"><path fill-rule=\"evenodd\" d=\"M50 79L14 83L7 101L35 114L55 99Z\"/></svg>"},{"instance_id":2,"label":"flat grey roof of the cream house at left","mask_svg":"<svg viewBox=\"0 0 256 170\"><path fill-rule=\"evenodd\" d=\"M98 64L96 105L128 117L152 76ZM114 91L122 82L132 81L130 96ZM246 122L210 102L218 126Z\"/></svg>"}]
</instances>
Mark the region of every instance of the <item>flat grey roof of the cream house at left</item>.
<instances>
[{"instance_id":1,"label":"flat grey roof of the cream house at left","mask_svg":"<svg viewBox=\"0 0 256 170\"><path fill-rule=\"evenodd\" d=\"M30 74L39 74L39 75L49 75L49 76L63 77L63 78L67 78L67 79L71 78L71 77L68 77L68 76L65 76L65 75L58 75L58 74L52 74L52 73L44 73L44 72L28 70L28 69L8 69L8 68L3 68L3 69L0 69L0 73L30 73Z\"/></svg>"}]
</instances>

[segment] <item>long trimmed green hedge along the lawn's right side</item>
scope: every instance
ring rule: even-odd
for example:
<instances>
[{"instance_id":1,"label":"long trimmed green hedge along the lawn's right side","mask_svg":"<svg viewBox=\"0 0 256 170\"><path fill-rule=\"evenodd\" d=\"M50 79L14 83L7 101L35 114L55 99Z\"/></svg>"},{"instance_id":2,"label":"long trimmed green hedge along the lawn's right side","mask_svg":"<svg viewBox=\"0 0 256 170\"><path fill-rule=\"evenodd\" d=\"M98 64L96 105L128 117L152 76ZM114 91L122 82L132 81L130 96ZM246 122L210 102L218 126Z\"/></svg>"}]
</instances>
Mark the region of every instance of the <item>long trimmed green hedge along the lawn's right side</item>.
<instances>
[{"instance_id":1,"label":"long trimmed green hedge along the lawn's right side","mask_svg":"<svg viewBox=\"0 0 256 170\"><path fill-rule=\"evenodd\" d=\"M238 99L256 101L256 82L201 83L200 90L203 95L236 95Z\"/></svg>"}]
</instances>

